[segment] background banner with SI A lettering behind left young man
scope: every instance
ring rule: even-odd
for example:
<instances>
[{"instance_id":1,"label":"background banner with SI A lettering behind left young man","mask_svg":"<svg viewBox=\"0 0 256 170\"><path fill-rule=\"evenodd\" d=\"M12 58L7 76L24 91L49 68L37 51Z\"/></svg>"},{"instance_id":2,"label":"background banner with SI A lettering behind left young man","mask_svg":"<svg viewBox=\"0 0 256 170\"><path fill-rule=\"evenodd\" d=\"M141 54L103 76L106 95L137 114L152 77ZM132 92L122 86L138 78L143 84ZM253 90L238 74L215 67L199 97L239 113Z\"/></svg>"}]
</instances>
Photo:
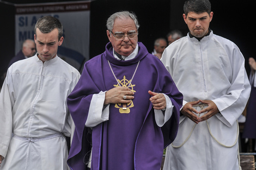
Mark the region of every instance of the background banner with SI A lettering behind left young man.
<instances>
[{"instance_id":1,"label":"background banner with SI A lettering behind left young man","mask_svg":"<svg viewBox=\"0 0 256 170\"><path fill-rule=\"evenodd\" d=\"M16 4L15 10L15 54L24 40L34 39L36 21L51 15L64 29L58 56L81 71L84 61L89 60L90 1Z\"/></svg>"}]
</instances>

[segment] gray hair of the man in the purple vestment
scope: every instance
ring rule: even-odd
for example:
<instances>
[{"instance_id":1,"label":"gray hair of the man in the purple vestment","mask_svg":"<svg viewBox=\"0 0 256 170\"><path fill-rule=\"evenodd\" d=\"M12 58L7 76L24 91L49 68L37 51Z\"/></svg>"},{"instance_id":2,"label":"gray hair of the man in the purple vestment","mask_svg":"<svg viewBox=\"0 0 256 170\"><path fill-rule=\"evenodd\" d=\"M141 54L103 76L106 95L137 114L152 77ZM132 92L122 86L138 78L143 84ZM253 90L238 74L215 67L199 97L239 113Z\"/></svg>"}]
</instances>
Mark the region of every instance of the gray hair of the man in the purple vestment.
<instances>
[{"instance_id":1,"label":"gray hair of the man in the purple vestment","mask_svg":"<svg viewBox=\"0 0 256 170\"><path fill-rule=\"evenodd\" d=\"M138 29L139 29L139 23L138 23L138 19L137 19L137 16L135 15L134 12L129 12L129 11L121 11L121 12L115 12L114 14L112 14L108 19L107 19L107 29L108 30L113 30L113 26L114 26L114 21L115 19L117 18L132 18L132 20L134 21L135 23L135 26L136 26L136 29L137 29L137 32L138 32Z\"/></svg>"}]
</instances>

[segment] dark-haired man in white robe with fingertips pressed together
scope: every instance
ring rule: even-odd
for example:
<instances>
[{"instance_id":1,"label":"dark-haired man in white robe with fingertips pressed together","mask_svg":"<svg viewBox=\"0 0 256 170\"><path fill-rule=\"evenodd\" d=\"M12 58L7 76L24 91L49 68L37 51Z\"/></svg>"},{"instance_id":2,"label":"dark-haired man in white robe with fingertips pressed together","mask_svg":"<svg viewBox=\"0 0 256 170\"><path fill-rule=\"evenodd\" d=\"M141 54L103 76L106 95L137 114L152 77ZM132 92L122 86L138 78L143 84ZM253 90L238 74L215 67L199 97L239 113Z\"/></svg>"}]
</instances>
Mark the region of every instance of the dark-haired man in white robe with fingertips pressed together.
<instances>
[{"instance_id":1,"label":"dark-haired man in white robe with fingertips pressed together","mask_svg":"<svg viewBox=\"0 0 256 170\"><path fill-rule=\"evenodd\" d=\"M161 58L184 95L164 170L238 170L237 118L251 91L245 59L233 42L210 30L214 13L208 0L186 1L184 12L190 32Z\"/></svg>"}]
</instances>

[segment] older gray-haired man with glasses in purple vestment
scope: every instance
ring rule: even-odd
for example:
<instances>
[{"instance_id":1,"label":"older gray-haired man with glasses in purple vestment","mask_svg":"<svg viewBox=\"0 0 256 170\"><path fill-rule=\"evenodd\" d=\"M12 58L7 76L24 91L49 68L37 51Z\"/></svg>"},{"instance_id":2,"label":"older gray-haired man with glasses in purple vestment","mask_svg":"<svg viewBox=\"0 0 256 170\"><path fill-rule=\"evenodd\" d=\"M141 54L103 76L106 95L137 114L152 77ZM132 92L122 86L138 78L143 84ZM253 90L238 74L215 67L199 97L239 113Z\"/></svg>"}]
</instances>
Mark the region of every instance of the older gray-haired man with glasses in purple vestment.
<instances>
[{"instance_id":1,"label":"older gray-haired man with glasses in purple vestment","mask_svg":"<svg viewBox=\"0 0 256 170\"><path fill-rule=\"evenodd\" d=\"M111 15L106 51L86 62L68 97L71 169L160 169L163 148L176 136L182 94L138 42L138 28L133 12Z\"/></svg>"}]
</instances>

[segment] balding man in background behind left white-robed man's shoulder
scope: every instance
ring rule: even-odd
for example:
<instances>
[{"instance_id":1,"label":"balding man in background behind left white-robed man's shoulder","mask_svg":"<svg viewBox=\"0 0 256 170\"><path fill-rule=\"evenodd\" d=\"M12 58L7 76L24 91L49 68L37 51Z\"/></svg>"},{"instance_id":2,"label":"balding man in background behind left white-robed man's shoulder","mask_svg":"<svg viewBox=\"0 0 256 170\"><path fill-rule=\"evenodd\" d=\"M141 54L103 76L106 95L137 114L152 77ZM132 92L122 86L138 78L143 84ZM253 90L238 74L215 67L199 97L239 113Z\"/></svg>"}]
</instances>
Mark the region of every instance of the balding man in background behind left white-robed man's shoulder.
<instances>
[{"instance_id":1,"label":"balding man in background behind left white-robed man's shoulder","mask_svg":"<svg viewBox=\"0 0 256 170\"><path fill-rule=\"evenodd\" d=\"M36 52L34 40L27 39L23 41L21 50L10 60L8 68L14 64L14 62L27 59L34 56Z\"/></svg>"}]
</instances>

